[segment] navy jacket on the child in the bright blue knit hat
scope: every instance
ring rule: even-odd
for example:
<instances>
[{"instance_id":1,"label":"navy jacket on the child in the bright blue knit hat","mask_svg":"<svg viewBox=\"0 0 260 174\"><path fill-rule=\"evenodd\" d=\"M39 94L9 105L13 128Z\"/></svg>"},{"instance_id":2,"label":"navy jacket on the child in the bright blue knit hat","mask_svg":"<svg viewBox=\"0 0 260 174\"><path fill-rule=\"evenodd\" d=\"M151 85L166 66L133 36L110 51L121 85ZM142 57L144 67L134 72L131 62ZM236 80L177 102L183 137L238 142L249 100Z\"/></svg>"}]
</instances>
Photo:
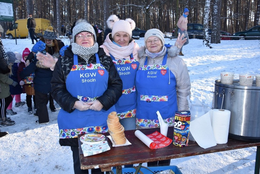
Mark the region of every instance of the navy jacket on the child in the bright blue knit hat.
<instances>
[{"instance_id":1,"label":"navy jacket on the child in the bright blue knit hat","mask_svg":"<svg viewBox=\"0 0 260 174\"><path fill-rule=\"evenodd\" d=\"M35 73L33 80L34 90L42 93L51 92L52 72L50 68L39 64L39 61L34 57L32 62L20 73L20 78L25 78L31 73Z\"/></svg>"}]
</instances>

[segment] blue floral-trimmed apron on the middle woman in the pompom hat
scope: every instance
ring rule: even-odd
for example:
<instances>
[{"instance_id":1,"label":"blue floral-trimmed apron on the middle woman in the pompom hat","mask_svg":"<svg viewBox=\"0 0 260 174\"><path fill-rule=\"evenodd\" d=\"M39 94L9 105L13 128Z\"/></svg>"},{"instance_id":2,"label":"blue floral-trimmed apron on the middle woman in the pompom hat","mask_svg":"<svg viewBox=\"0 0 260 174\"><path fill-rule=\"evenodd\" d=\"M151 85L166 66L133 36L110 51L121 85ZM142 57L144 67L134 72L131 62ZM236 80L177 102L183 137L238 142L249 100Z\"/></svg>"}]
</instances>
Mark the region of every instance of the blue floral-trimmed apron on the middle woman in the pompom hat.
<instances>
[{"instance_id":1,"label":"blue floral-trimmed apron on the middle woman in the pompom hat","mask_svg":"<svg viewBox=\"0 0 260 174\"><path fill-rule=\"evenodd\" d=\"M139 62L130 55L130 59L115 60L110 54L117 72L123 82L122 96L115 104L119 119L135 117L136 114L136 96L135 76L139 67Z\"/></svg>"}]
</instances>

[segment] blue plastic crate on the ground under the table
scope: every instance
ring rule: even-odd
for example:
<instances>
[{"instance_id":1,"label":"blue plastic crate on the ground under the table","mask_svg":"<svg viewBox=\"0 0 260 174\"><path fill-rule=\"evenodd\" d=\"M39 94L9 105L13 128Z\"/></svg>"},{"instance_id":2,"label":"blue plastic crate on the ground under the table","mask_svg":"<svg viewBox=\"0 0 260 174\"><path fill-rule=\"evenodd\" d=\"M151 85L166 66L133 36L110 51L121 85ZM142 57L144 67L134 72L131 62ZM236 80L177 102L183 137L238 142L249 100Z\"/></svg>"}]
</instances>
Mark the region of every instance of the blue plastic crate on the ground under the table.
<instances>
[{"instance_id":1,"label":"blue plastic crate on the ground under the table","mask_svg":"<svg viewBox=\"0 0 260 174\"><path fill-rule=\"evenodd\" d=\"M158 166L158 167L147 167L154 173L158 173L164 170L169 170L172 169L175 174L182 174L180 169L176 165L170 165L170 166ZM143 172L143 174L153 174L150 170L147 170L146 168L141 167L140 171ZM114 174L116 173L116 168L113 167L112 171ZM122 174L135 174L135 169L134 168L122 168ZM140 173L139 173L140 174Z\"/></svg>"}]
</instances>

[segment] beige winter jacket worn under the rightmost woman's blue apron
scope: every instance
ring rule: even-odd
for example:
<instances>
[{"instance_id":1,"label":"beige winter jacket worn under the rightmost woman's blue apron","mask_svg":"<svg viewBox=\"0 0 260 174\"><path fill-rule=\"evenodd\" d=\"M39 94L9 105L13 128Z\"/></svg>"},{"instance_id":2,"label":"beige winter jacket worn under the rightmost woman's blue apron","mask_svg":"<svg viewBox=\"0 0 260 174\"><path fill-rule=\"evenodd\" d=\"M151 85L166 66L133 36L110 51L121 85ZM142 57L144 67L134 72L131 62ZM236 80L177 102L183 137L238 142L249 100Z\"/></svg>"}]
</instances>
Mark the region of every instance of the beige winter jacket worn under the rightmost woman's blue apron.
<instances>
[{"instance_id":1,"label":"beige winter jacket worn under the rightmost woman's blue apron","mask_svg":"<svg viewBox=\"0 0 260 174\"><path fill-rule=\"evenodd\" d=\"M145 47L142 46L138 51L139 57L139 67L143 66L146 56ZM179 49L172 46L168 49L167 66L176 78L176 90L177 90L177 100L178 100L178 110L189 110L188 101L186 97L190 95L190 76L186 66L186 63L182 58L178 57ZM152 59L148 56L148 65L161 64L163 61L163 56L158 56Z\"/></svg>"}]
</instances>

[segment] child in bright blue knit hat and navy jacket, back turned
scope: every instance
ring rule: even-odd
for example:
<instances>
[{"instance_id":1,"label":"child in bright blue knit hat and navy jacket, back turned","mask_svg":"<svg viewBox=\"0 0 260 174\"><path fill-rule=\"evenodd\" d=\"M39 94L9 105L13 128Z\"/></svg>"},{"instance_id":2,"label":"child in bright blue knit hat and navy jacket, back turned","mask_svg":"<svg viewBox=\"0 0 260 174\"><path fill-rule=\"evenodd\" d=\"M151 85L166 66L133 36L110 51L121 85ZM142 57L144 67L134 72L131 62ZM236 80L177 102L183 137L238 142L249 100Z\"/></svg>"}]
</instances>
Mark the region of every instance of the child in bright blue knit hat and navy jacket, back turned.
<instances>
[{"instance_id":1,"label":"child in bright blue knit hat and navy jacket, back turned","mask_svg":"<svg viewBox=\"0 0 260 174\"><path fill-rule=\"evenodd\" d=\"M38 41L32 48L34 55L38 52L46 53L45 43ZM49 124L49 114L47 109L47 103L49 101L49 94L51 92L51 79L52 71L49 67L45 67L40 61L36 59L36 56L32 62L20 72L20 78L25 78L32 73L35 73L34 77L34 90L35 90L35 102L36 113L35 117L39 120L35 121L36 124Z\"/></svg>"}]
</instances>

